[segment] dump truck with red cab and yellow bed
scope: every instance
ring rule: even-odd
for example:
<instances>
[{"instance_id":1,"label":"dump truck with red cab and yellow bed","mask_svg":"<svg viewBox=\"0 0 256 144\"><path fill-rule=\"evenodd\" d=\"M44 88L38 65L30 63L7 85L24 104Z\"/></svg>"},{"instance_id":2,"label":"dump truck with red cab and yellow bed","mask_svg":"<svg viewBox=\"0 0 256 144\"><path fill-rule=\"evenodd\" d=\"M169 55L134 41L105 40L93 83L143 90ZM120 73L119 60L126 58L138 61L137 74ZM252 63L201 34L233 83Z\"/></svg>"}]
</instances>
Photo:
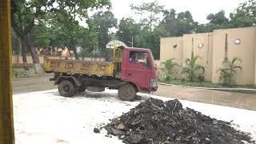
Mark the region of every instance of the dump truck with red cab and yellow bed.
<instances>
[{"instance_id":1,"label":"dump truck with red cab and yellow bed","mask_svg":"<svg viewBox=\"0 0 256 144\"><path fill-rule=\"evenodd\" d=\"M150 50L115 46L108 54L104 62L45 58L44 70L54 73L50 80L64 97L108 88L118 90L122 100L130 101L138 92L158 89L158 73Z\"/></svg>"}]
</instances>

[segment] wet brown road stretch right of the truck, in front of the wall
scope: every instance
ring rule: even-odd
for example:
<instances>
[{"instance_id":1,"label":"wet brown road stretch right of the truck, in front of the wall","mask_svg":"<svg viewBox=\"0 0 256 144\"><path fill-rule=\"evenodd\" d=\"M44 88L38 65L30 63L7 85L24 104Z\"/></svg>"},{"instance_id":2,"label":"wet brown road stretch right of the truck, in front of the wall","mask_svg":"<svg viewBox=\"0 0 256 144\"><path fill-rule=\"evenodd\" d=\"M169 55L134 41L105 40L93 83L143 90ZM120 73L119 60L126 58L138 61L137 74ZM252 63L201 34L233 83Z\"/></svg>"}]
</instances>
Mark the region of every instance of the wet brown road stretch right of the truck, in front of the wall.
<instances>
[{"instance_id":1,"label":"wet brown road stretch right of the truck, in front of the wall","mask_svg":"<svg viewBox=\"0 0 256 144\"><path fill-rule=\"evenodd\" d=\"M158 87L158 91L155 94L193 102L204 102L246 110L256 110L256 94L243 94L229 91L202 90L181 86L163 85Z\"/></svg>"}]
</instances>

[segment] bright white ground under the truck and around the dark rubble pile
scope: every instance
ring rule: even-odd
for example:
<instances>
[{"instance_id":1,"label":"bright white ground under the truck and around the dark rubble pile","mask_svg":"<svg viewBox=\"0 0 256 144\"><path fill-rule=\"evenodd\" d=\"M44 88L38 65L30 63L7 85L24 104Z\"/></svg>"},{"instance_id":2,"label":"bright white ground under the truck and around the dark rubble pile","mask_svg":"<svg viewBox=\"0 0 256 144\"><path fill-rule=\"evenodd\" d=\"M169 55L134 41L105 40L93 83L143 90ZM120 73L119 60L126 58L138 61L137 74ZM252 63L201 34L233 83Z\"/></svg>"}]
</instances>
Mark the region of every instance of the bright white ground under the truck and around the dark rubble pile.
<instances>
[{"instance_id":1,"label":"bright white ground under the truck and around the dark rubble pile","mask_svg":"<svg viewBox=\"0 0 256 144\"><path fill-rule=\"evenodd\" d=\"M141 100L125 102L118 98L117 90L106 90L103 93L86 92L74 98L60 97L58 90L14 94L15 143L122 143L117 137L105 137L104 129L100 134L95 134L94 128L109 123L111 118L118 118L149 97L170 100L155 95L138 95ZM183 107L190 107L211 118L232 121L235 129L250 133L256 140L256 111L202 102L180 102Z\"/></svg>"}]
</instances>

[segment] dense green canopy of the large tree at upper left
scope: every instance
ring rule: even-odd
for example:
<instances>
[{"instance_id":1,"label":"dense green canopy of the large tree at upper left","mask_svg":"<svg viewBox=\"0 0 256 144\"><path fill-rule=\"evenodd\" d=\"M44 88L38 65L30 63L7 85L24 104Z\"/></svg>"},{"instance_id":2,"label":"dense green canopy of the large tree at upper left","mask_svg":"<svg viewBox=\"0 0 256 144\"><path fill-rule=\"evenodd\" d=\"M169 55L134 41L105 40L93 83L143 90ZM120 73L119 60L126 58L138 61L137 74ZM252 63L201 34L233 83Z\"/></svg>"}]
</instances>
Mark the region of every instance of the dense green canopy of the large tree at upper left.
<instances>
[{"instance_id":1,"label":"dense green canopy of the large tree at upper left","mask_svg":"<svg viewBox=\"0 0 256 144\"><path fill-rule=\"evenodd\" d=\"M95 35L91 33L94 29L88 20L88 10L105 6L110 7L110 0L12 0L12 26L20 38L27 39L25 42L32 38L36 46L67 46L74 50L74 55L78 58L76 47L80 42L86 42L88 37L94 38ZM79 26L78 20L87 20L89 30ZM37 23L39 25L33 29ZM32 37L31 30L34 30ZM88 41L95 42L91 39ZM32 42L27 45L34 47ZM81 45L90 46L90 43Z\"/></svg>"}]
</instances>

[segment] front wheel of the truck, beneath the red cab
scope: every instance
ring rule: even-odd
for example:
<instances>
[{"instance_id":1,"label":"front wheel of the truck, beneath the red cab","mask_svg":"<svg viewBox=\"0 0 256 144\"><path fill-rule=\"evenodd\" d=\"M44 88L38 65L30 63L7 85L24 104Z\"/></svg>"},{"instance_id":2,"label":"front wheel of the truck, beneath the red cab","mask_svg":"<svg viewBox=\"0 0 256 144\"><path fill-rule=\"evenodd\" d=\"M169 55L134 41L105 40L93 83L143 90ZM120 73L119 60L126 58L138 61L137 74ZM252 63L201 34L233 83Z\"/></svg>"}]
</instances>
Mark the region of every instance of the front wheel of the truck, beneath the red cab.
<instances>
[{"instance_id":1,"label":"front wheel of the truck, beneath the red cab","mask_svg":"<svg viewBox=\"0 0 256 144\"><path fill-rule=\"evenodd\" d=\"M125 84L119 87L118 96L125 101L131 101L135 98L137 91L131 84Z\"/></svg>"}]
</instances>

